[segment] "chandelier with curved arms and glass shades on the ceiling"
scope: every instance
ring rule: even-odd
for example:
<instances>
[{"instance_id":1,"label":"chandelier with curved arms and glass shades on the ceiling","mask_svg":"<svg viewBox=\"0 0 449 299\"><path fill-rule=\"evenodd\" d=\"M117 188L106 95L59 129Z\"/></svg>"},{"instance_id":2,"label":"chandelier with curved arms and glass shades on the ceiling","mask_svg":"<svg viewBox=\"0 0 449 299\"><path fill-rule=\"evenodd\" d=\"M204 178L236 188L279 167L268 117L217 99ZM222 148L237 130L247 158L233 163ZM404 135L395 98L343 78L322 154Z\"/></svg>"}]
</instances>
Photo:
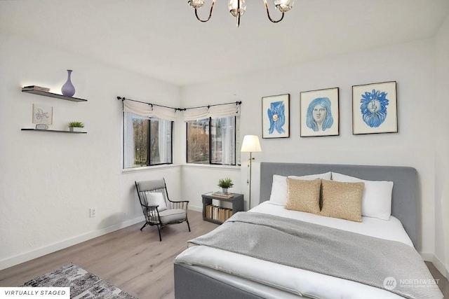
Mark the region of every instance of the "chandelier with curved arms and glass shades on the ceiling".
<instances>
[{"instance_id":1,"label":"chandelier with curved arms and glass shades on the ceiling","mask_svg":"<svg viewBox=\"0 0 449 299\"><path fill-rule=\"evenodd\" d=\"M269 15L269 8L268 8L267 0L264 0L268 19L274 23L281 22L281 20L283 19L283 14L290 11L290 9L292 9L293 1L294 0L273 0L276 10L282 13L281 18L279 20L273 20L272 17ZM209 18L207 18L206 20L202 20L198 16L198 9L203 7L204 0L189 0L188 3L189 3L190 7L195 9L196 19L198 19L200 22L207 22L208 20L210 20L210 17L212 17L212 11L213 11L213 6L215 5L215 0L212 1L212 5L210 6ZM231 15L236 18L237 27L239 27L240 26L240 17L246 11L246 1L245 0L229 0L227 7L229 8L229 13L231 13Z\"/></svg>"}]
</instances>

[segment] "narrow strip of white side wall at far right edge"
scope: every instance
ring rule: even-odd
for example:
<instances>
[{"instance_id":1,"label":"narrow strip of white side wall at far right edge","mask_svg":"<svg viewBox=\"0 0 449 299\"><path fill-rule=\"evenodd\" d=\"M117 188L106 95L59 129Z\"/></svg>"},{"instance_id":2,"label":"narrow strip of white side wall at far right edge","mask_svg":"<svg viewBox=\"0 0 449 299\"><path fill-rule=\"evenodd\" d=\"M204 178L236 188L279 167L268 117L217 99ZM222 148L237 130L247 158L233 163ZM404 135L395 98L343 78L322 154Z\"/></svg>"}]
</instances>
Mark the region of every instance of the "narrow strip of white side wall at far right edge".
<instances>
[{"instance_id":1,"label":"narrow strip of white side wall at far right edge","mask_svg":"<svg viewBox=\"0 0 449 299\"><path fill-rule=\"evenodd\" d=\"M436 36L436 76L434 101L430 109L434 111L435 119L435 253L440 265L438 270L446 272L449 278L449 118L445 116L449 111L449 17ZM445 265L445 270L441 265Z\"/></svg>"}]
</instances>

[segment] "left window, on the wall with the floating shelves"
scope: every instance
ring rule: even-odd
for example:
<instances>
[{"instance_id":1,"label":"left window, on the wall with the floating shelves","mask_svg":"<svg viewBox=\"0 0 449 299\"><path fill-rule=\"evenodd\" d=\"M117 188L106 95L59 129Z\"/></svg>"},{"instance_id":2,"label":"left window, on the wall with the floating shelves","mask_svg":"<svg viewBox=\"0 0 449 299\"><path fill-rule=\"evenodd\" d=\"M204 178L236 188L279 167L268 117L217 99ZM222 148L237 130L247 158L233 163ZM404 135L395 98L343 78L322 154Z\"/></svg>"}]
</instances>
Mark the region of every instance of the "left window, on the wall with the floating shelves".
<instances>
[{"instance_id":1,"label":"left window, on the wall with the floating shelves","mask_svg":"<svg viewBox=\"0 0 449 299\"><path fill-rule=\"evenodd\" d=\"M123 168L171 164L173 121L123 113Z\"/></svg>"}]
</instances>

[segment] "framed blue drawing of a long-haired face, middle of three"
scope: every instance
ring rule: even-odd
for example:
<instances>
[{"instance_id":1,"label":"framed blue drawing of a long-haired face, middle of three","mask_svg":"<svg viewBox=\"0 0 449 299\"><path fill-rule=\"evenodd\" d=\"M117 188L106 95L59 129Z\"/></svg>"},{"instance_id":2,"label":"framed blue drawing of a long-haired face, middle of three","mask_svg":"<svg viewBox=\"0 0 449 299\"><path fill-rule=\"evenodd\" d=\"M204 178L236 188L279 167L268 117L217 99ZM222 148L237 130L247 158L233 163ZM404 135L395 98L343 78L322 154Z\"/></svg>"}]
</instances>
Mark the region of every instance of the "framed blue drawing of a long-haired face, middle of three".
<instances>
[{"instance_id":1,"label":"framed blue drawing of a long-haired face, middle of three","mask_svg":"<svg viewBox=\"0 0 449 299\"><path fill-rule=\"evenodd\" d=\"M301 137L340 134L339 88L300 92Z\"/></svg>"}]
</instances>

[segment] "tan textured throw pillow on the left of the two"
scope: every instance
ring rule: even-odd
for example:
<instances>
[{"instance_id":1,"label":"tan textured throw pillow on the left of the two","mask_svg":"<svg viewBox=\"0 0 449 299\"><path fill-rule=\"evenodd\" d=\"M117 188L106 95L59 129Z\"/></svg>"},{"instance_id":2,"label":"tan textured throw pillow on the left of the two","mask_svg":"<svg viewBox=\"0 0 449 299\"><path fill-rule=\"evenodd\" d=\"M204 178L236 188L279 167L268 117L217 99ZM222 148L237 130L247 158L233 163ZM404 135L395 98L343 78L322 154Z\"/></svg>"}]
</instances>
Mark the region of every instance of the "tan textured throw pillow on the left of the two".
<instances>
[{"instance_id":1,"label":"tan textured throw pillow on the left of the two","mask_svg":"<svg viewBox=\"0 0 449 299\"><path fill-rule=\"evenodd\" d=\"M304 181L287 178L287 202L284 209L307 211L318 214L320 211L321 179Z\"/></svg>"}]
</instances>

